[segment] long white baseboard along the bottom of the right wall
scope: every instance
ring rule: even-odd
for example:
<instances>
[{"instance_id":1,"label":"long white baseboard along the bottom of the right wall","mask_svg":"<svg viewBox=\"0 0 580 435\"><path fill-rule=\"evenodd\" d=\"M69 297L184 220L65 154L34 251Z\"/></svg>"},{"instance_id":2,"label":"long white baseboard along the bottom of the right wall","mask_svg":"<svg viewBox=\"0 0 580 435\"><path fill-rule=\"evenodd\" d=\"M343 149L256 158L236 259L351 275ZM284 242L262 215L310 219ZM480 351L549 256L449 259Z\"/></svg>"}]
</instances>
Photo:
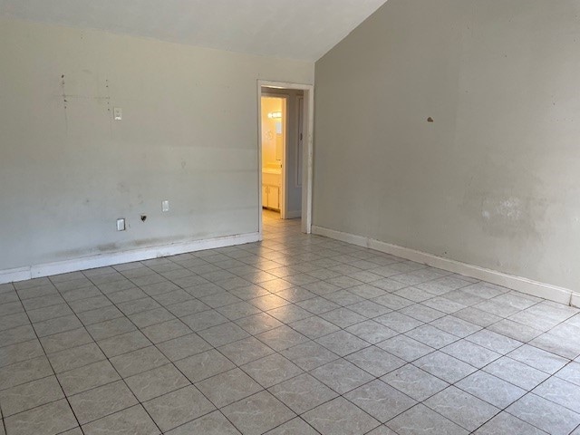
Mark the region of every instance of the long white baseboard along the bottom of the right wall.
<instances>
[{"instance_id":1,"label":"long white baseboard along the bottom of the right wall","mask_svg":"<svg viewBox=\"0 0 580 435\"><path fill-rule=\"evenodd\" d=\"M417 263L438 267L455 274L470 276L495 285L502 285L511 288L512 290L526 293L527 295L534 295L560 304L573 304L580 307L580 295L575 294L572 290L564 287L540 283L522 276L507 275L496 270L468 265L467 263L434 256L408 247L399 247L370 237L356 236L325 227L313 226L312 232L319 236L330 237L359 247L368 247L376 251L390 254L391 256L399 256Z\"/></svg>"}]
</instances>

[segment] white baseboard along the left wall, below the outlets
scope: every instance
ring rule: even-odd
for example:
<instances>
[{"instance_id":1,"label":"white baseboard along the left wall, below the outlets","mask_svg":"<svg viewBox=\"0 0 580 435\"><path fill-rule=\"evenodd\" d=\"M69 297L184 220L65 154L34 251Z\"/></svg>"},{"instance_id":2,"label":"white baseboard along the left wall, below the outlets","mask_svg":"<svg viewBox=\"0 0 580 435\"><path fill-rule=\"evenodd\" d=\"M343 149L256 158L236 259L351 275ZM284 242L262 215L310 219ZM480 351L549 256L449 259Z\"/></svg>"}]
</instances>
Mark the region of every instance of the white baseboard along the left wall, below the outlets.
<instances>
[{"instance_id":1,"label":"white baseboard along the left wall, below the outlets","mask_svg":"<svg viewBox=\"0 0 580 435\"><path fill-rule=\"evenodd\" d=\"M38 278L40 276L66 274L68 272L92 269L95 267L120 265L122 263L131 263L132 261L150 260L151 258L158 258L160 256L176 256L186 252L202 251L204 249L213 249L216 247L243 245L245 243L257 242L259 240L259 233L248 233L236 236L209 238L205 240L189 240L159 247L143 247L112 254L85 256L82 258L46 263L43 265L0 270L0 284L24 281L26 279Z\"/></svg>"}]
</instances>

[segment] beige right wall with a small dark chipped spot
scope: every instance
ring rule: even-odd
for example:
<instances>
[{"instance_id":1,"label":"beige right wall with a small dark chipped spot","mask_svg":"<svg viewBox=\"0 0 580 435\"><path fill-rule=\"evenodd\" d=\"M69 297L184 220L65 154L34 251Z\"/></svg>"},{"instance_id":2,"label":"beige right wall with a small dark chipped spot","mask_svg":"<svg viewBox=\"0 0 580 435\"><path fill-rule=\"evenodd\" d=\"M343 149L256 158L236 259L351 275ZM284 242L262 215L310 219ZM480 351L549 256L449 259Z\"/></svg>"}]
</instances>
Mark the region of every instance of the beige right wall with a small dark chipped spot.
<instances>
[{"instance_id":1,"label":"beige right wall with a small dark chipped spot","mask_svg":"<svg viewBox=\"0 0 580 435\"><path fill-rule=\"evenodd\" d=\"M314 225L579 291L578 14L382 6L316 63Z\"/></svg>"}]
</instances>

